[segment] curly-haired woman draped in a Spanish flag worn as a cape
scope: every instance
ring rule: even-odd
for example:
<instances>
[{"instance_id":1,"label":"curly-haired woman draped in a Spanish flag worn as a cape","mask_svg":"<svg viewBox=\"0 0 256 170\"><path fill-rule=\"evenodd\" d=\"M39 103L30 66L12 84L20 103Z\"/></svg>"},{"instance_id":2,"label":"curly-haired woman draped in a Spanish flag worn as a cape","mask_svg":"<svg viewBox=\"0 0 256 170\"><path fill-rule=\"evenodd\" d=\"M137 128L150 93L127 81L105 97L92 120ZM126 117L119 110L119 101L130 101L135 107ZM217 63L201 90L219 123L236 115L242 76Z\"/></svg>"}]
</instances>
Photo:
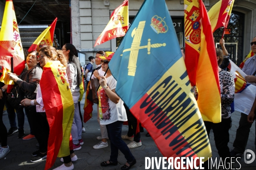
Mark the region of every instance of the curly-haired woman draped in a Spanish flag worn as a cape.
<instances>
[{"instance_id":1,"label":"curly-haired woman draped in a Spanish flag worn as a cape","mask_svg":"<svg viewBox=\"0 0 256 170\"><path fill-rule=\"evenodd\" d=\"M43 74L35 100L24 99L21 105L36 105L38 112L46 112L49 123L49 139L45 170L52 167L56 157L63 157L64 164L55 170L73 170L70 157L70 133L74 116L74 103L67 81L66 68L57 61L64 57L51 46L40 49L38 61ZM57 130L58 129L58 130Z\"/></svg>"}]
</instances>

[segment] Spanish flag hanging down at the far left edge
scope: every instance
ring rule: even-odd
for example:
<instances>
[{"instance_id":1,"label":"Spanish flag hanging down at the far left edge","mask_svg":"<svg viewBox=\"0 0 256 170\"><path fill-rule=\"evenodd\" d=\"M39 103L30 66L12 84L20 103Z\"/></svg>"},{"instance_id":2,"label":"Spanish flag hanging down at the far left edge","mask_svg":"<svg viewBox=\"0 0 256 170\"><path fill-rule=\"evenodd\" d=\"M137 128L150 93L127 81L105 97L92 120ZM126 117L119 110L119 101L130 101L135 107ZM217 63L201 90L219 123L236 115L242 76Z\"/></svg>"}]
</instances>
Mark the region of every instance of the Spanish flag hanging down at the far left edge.
<instances>
[{"instance_id":1,"label":"Spanish flag hanging down at the far left edge","mask_svg":"<svg viewBox=\"0 0 256 170\"><path fill-rule=\"evenodd\" d=\"M9 85L13 81L6 73L12 70L12 59L13 72L20 75L25 68L24 53L12 0L6 0L0 31L0 65L4 67L0 81Z\"/></svg>"}]
</instances>

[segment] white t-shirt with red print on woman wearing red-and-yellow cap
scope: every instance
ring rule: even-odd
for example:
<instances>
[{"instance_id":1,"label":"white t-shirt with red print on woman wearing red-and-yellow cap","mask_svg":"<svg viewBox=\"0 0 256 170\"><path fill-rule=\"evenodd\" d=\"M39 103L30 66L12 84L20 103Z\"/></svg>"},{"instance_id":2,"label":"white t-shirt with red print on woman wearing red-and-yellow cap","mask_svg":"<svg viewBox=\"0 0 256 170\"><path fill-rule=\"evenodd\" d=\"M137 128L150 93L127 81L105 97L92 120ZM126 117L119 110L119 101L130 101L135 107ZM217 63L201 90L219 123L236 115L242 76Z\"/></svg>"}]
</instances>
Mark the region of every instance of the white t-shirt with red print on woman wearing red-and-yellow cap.
<instances>
[{"instance_id":1,"label":"white t-shirt with red print on woman wearing red-and-yellow cap","mask_svg":"<svg viewBox=\"0 0 256 170\"><path fill-rule=\"evenodd\" d=\"M107 78L107 85L110 90L116 88L116 79L114 79L112 75ZM119 102L115 104L108 98L108 95L102 87L99 88L98 96L99 119L101 125L108 125L116 121L127 121L127 115L122 99L119 99Z\"/></svg>"}]
</instances>

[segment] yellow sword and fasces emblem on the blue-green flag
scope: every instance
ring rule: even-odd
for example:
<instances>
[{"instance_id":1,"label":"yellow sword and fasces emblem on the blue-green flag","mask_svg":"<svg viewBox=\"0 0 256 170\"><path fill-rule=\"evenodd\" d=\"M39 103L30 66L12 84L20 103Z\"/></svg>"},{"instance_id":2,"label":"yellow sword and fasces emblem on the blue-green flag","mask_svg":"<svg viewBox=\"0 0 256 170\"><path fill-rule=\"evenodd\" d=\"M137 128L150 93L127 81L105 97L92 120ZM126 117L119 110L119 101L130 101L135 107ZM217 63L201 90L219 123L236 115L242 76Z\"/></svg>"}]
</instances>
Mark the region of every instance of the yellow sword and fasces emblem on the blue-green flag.
<instances>
[{"instance_id":1,"label":"yellow sword and fasces emblem on the blue-green flag","mask_svg":"<svg viewBox=\"0 0 256 170\"><path fill-rule=\"evenodd\" d=\"M159 48L161 46L166 46L166 43L160 44L151 44L151 40L148 39L148 45L140 46L141 37L143 34L143 30L145 27L146 21L140 21L138 28L135 27L134 30L131 32L131 37L133 37L133 41L131 43L131 48L125 49L123 51L131 51L130 57L129 57L129 63L128 63L128 76L135 76L136 68L137 68L137 58L139 54L139 50L143 48L148 48L148 54L150 54L151 48ZM122 56L122 55L121 55Z\"/></svg>"}]
</instances>

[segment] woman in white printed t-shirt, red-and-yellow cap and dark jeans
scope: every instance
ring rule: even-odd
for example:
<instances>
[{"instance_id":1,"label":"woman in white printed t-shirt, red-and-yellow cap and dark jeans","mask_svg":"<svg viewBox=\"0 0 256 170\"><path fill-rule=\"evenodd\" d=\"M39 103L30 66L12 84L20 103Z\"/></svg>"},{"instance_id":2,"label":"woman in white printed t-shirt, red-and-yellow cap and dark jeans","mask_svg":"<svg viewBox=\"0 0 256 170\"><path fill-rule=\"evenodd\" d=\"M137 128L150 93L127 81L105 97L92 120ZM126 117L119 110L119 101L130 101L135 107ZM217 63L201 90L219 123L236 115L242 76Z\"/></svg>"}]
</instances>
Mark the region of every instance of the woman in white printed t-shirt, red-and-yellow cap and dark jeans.
<instances>
[{"instance_id":1,"label":"woman in white printed t-shirt, red-and-yellow cap and dark jeans","mask_svg":"<svg viewBox=\"0 0 256 170\"><path fill-rule=\"evenodd\" d=\"M101 166L117 165L118 150L120 150L127 160L126 164L121 167L122 170L128 170L136 164L136 159L132 155L127 144L122 140L122 124L127 121L124 102L115 93L116 79L108 69L108 62L114 53L106 52L102 59L102 71L107 72L106 77L102 76L99 80L101 85L98 91L99 96L99 119L101 125L106 125L108 138L111 143L111 156L109 161L104 161ZM108 71L107 71L108 69Z\"/></svg>"}]
</instances>

